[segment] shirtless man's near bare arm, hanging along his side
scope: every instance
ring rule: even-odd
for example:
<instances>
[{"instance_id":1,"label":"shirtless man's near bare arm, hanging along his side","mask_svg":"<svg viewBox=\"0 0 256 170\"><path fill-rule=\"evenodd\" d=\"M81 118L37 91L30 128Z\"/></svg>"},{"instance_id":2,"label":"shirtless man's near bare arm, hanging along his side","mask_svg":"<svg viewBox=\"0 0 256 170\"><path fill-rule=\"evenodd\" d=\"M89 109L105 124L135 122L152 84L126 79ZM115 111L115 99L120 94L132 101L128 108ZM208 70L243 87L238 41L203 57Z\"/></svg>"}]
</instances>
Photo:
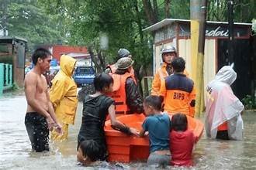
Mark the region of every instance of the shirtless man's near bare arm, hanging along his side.
<instances>
[{"instance_id":1,"label":"shirtless man's near bare arm, hanging along his side","mask_svg":"<svg viewBox=\"0 0 256 170\"><path fill-rule=\"evenodd\" d=\"M48 111L42 107L40 101L36 100L36 83L37 77L36 74L29 73L25 77L25 95L26 101L33 110L36 110L39 114L42 114L43 117L50 117Z\"/></svg>"}]
</instances>

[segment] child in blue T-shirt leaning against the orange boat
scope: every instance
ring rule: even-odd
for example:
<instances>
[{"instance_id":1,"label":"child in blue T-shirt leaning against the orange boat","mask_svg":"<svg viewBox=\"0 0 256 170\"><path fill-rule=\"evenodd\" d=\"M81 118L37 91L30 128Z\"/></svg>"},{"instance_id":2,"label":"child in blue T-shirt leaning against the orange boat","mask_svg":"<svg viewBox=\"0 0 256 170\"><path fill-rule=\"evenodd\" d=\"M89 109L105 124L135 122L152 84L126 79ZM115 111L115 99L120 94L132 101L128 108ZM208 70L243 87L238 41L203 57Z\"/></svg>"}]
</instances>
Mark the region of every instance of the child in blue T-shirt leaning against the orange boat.
<instances>
[{"instance_id":1,"label":"child in blue T-shirt leaning against the orange boat","mask_svg":"<svg viewBox=\"0 0 256 170\"><path fill-rule=\"evenodd\" d=\"M171 121L168 114L161 113L161 98L150 95L144 100L144 112L147 118L142 124L140 137L148 132L150 140L150 155L147 165L166 166L170 164L169 133Z\"/></svg>"}]
</instances>

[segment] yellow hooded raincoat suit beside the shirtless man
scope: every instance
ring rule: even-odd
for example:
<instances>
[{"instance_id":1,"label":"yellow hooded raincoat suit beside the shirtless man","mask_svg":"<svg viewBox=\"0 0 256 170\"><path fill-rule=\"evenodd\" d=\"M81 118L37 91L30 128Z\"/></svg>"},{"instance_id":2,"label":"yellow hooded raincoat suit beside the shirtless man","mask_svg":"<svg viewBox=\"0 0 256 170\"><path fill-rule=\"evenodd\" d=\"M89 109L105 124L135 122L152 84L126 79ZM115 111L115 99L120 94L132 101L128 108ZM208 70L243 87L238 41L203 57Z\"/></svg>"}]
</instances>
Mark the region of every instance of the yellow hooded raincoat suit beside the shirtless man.
<instances>
[{"instance_id":1,"label":"yellow hooded raincoat suit beside the shirtless man","mask_svg":"<svg viewBox=\"0 0 256 170\"><path fill-rule=\"evenodd\" d=\"M77 85L72 78L76 60L71 56L61 56L61 70L52 80L50 88L50 101L54 106L57 121L61 123L64 134L55 131L52 139L63 140L67 138L68 124L74 124L74 117L78 106Z\"/></svg>"}]
</instances>

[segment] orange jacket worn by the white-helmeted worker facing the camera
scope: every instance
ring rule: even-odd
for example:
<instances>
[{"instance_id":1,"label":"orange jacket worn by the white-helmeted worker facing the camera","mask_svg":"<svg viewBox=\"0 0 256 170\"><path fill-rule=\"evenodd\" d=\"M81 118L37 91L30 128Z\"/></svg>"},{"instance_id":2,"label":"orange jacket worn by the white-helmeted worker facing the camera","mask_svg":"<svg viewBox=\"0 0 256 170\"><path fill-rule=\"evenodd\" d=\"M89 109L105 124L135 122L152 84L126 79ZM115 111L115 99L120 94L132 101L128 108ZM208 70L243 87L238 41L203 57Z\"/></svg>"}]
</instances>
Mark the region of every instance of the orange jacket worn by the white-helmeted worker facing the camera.
<instances>
[{"instance_id":1,"label":"orange jacket worn by the white-helmeted worker facing the camera","mask_svg":"<svg viewBox=\"0 0 256 170\"><path fill-rule=\"evenodd\" d=\"M163 63L162 66L157 70L157 73L154 75L154 80L152 82L152 89L151 89L151 94L152 95L159 95L160 93L160 88L161 88L161 84L164 83L164 80L168 75L167 71L166 71L166 63ZM184 70L184 74L186 76L189 76L189 73Z\"/></svg>"}]
</instances>

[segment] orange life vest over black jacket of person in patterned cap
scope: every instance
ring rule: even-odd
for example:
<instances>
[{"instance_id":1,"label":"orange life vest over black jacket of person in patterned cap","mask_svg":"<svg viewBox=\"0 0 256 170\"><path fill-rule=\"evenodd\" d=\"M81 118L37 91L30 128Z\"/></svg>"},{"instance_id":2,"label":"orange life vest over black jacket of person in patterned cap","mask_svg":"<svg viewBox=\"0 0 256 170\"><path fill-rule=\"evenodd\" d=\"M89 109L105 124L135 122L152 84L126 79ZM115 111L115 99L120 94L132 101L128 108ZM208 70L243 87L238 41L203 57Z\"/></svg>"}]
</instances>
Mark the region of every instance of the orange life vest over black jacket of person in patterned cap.
<instances>
[{"instance_id":1,"label":"orange life vest over black jacket of person in patterned cap","mask_svg":"<svg viewBox=\"0 0 256 170\"><path fill-rule=\"evenodd\" d=\"M112 73L111 76L114 83L113 91L109 96L115 100L116 114L130 114L130 108L126 104L126 80L133 76L131 73L125 73L122 75Z\"/></svg>"}]
</instances>

